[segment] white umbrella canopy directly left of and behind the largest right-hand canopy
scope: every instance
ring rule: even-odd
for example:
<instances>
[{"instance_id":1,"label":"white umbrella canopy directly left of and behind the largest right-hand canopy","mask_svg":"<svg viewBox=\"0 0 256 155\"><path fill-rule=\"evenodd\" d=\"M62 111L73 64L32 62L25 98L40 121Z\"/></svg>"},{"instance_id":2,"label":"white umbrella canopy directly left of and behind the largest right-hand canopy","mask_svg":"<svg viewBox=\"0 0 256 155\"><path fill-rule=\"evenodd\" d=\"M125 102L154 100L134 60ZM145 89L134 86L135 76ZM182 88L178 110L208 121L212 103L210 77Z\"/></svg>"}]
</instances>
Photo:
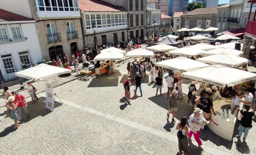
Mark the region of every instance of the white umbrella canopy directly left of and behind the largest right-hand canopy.
<instances>
[{"instance_id":1,"label":"white umbrella canopy directly left of and behind the largest right-hand canopy","mask_svg":"<svg viewBox=\"0 0 256 155\"><path fill-rule=\"evenodd\" d=\"M210 65L202 62L198 62L186 57L177 57L175 59L169 59L155 63L156 66L169 68L171 70L184 70L192 71L200 68L209 67Z\"/></svg>"}]
</instances>

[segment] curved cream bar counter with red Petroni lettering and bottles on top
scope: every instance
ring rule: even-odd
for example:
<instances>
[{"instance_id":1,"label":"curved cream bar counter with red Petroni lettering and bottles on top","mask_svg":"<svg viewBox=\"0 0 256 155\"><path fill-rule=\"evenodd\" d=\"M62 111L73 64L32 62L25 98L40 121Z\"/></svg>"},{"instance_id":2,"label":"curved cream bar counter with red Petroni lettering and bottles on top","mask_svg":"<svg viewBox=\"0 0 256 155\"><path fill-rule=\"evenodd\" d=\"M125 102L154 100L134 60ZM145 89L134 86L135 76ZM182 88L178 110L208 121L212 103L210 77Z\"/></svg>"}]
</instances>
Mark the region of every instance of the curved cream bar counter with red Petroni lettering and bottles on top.
<instances>
[{"instance_id":1,"label":"curved cream bar counter with red Petroni lettering and bottles on top","mask_svg":"<svg viewBox=\"0 0 256 155\"><path fill-rule=\"evenodd\" d=\"M216 100L213 101L213 109L216 112L219 112L221 114L222 109L225 109L228 111L229 106L230 106L231 100L228 100L227 103L225 103L224 100ZM239 108L241 109L241 102L239 103ZM214 116L213 113L211 112L211 116L209 119L209 124L207 125L209 129L215 133L216 135L220 136L223 139L226 139L228 141L232 141L233 139L233 133L235 129L235 124L236 124L236 119L239 113L237 112L238 109L233 113L236 117L234 119L234 122L230 122L229 118L223 119L222 115L217 115Z\"/></svg>"}]
</instances>

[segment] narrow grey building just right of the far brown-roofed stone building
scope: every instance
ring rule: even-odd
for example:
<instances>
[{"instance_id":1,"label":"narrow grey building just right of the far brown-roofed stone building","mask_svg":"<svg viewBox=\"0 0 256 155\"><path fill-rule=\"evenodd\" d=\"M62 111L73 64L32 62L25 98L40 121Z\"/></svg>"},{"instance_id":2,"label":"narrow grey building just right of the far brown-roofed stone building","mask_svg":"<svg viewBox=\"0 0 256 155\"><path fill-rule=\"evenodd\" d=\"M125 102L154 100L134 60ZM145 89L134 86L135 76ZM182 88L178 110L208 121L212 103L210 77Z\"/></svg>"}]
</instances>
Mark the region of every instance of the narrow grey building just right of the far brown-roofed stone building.
<instances>
[{"instance_id":1,"label":"narrow grey building just right of the far brown-roofed stone building","mask_svg":"<svg viewBox=\"0 0 256 155\"><path fill-rule=\"evenodd\" d=\"M217 7L217 22L216 28L219 28L218 33L227 31L227 17L229 14L229 4Z\"/></svg>"}]
</instances>

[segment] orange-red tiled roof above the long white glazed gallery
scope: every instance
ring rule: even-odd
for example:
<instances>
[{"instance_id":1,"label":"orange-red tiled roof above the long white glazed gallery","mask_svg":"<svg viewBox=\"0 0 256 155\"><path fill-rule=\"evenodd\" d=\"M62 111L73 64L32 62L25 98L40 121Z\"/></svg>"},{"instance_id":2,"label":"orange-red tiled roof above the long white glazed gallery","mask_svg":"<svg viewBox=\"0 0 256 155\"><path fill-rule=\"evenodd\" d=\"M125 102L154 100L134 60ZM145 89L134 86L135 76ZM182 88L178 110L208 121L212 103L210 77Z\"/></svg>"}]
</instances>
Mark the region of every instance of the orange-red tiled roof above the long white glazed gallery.
<instances>
[{"instance_id":1,"label":"orange-red tiled roof above the long white glazed gallery","mask_svg":"<svg viewBox=\"0 0 256 155\"><path fill-rule=\"evenodd\" d=\"M79 0L79 7L84 12L128 12L99 0Z\"/></svg>"}]
</instances>

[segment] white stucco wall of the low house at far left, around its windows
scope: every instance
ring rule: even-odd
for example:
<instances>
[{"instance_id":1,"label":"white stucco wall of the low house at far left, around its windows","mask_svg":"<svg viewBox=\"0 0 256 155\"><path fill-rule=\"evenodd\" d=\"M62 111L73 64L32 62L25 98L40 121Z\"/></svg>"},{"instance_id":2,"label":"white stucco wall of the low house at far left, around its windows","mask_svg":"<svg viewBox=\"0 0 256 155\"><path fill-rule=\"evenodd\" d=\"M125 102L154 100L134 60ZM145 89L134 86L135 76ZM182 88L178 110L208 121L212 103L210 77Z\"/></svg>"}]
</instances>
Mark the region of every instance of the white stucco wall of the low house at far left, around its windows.
<instances>
[{"instance_id":1,"label":"white stucco wall of the low house at far left, around its windows","mask_svg":"<svg viewBox=\"0 0 256 155\"><path fill-rule=\"evenodd\" d=\"M14 25L0 25L0 27L3 27L3 26L7 28L9 39L12 39L12 33L10 32L9 27ZM17 25L15 24L15 26L18 26L18 24ZM20 24L19 26L21 28L22 36L27 38L26 41L11 41L11 42L0 43L0 56L11 54L13 64L14 64L14 69L16 72L22 70L21 60L19 58L19 52L28 51L31 64L34 63L35 65L37 65L37 62L42 61L42 54L39 46L39 41L37 38L35 23ZM0 69L1 69L4 80L5 81L9 80L10 76L7 76L5 72L3 60L1 57L0 57Z\"/></svg>"}]
</instances>

